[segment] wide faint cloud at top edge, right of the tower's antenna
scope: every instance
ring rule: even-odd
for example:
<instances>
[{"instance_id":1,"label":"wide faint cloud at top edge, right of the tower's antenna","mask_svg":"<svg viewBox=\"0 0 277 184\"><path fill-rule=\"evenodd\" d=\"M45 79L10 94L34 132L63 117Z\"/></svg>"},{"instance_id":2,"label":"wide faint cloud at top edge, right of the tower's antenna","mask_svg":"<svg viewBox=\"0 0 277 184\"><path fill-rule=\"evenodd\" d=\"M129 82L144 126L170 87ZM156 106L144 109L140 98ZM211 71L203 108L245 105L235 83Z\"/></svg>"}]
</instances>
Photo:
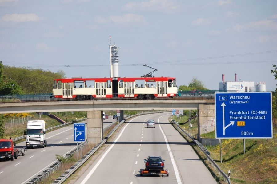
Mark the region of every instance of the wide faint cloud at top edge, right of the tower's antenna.
<instances>
[{"instance_id":1,"label":"wide faint cloud at top edge, right of the tower's antenna","mask_svg":"<svg viewBox=\"0 0 277 184\"><path fill-rule=\"evenodd\" d=\"M179 6L170 0L150 0L148 2L130 2L122 7L126 11L160 11L163 13L174 13L179 10Z\"/></svg>"}]
</instances>

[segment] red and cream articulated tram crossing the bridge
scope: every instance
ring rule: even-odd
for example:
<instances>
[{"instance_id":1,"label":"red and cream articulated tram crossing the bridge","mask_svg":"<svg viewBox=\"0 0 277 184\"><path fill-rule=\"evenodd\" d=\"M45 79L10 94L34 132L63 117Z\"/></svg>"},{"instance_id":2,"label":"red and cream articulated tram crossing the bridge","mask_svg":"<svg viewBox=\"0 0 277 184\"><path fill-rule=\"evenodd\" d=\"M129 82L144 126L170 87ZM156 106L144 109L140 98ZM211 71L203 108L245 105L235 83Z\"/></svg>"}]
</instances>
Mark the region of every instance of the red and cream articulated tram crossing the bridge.
<instances>
[{"instance_id":1,"label":"red and cream articulated tram crossing the bridge","mask_svg":"<svg viewBox=\"0 0 277 184\"><path fill-rule=\"evenodd\" d=\"M176 79L151 78L72 78L55 79L54 98L92 100L94 98L173 97L177 93Z\"/></svg>"}]
</instances>

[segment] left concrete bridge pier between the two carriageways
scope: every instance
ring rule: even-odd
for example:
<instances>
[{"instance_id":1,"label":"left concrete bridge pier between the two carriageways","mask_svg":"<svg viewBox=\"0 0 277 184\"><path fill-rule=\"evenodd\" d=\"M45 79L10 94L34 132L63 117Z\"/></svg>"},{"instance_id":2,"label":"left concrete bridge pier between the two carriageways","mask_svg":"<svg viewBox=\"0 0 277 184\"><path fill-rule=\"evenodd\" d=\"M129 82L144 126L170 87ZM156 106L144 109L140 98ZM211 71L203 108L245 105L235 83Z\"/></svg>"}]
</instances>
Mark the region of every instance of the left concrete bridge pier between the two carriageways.
<instances>
[{"instance_id":1,"label":"left concrete bridge pier between the two carriageways","mask_svg":"<svg viewBox=\"0 0 277 184\"><path fill-rule=\"evenodd\" d=\"M103 111L87 111L87 140L98 144L103 139Z\"/></svg>"}]
</instances>

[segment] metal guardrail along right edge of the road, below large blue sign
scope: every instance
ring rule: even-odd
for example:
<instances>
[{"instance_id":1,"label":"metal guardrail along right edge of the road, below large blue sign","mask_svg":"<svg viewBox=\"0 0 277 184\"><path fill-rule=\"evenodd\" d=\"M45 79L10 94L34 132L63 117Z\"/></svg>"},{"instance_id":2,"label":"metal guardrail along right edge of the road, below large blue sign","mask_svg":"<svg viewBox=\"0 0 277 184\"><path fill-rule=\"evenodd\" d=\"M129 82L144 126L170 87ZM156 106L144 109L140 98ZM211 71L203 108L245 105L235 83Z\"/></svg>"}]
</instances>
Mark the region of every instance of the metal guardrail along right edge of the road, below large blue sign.
<instances>
[{"instance_id":1,"label":"metal guardrail along right edge of the road, below large blue sign","mask_svg":"<svg viewBox=\"0 0 277 184\"><path fill-rule=\"evenodd\" d=\"M218 174L220 174L221 177L223 177L223 180L225 182L227 182L228 184L231 184L228 176L223 172L223 170L220 169L220 167L210 157L210 153L207 151L207 149L205 147L203 147L203 145L199 141L195 140L194 137L191 137L186 131L184 131L181 127L179 127L179 125L174 120L172 120L172 122L176 125L176 127L179 131L183 132L187 138L191 139L200 148L200 150L206 155L207 160L210 162L210 164L213 166L213 168L215 170L217 170Z\"/></svg>"}]
</instances>

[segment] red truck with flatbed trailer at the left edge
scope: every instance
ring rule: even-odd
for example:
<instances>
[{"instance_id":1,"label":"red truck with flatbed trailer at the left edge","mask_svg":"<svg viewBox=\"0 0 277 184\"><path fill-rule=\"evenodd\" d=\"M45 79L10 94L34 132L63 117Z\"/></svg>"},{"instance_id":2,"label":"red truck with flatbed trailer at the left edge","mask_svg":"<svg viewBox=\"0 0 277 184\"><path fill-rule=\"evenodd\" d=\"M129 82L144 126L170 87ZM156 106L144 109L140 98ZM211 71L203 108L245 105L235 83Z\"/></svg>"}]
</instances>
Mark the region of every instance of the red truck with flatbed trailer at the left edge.
<instances>
[{"instance_id":1,"label":"red truck with flatbed trailer at the left edge","mask_svg":"<svg viewBox=\"0 0 277 184\"><path fill-rule=\"evenodd\" d=\"M0 159L17 159L18 155L25 155L26 148L14 148L15 143L11 139L0 139Z\"/></svg>"}]
</instances>

